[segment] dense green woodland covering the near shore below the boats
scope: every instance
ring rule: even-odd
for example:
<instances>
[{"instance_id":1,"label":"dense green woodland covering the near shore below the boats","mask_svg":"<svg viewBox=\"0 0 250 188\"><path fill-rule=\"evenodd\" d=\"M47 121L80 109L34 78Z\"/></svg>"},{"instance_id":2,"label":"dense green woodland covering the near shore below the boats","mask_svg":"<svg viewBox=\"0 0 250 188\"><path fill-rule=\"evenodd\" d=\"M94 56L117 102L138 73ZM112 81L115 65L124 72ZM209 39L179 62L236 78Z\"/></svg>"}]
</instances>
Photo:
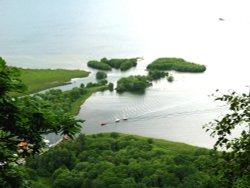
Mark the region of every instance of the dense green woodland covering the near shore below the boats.
<instances>
[{"instance_id":1,"label":"dense green woodland covering the near shore below the boats","mask_svg":"<svg viewBox=\"0 0 250 188\"><path fill-rule=\"evenodd\" d=\"M219 187L215 155L139 136L80 135L29 159L27 172L32 187Z\"/></svg>"}]
</instances>

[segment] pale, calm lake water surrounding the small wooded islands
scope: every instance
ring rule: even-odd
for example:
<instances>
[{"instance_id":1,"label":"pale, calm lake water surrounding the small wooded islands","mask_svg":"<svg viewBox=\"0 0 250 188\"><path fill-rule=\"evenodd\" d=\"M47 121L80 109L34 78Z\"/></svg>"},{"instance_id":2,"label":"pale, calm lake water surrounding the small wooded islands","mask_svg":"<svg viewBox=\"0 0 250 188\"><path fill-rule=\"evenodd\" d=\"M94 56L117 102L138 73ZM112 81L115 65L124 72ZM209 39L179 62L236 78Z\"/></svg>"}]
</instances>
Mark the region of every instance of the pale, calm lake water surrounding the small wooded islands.
<instances>
[{"instance_id":1,"label":"pale, calm lake water surrounding the small wooded islands","mask_svg":"<svg viewBox=\"0 0 250 188\"><path fill-rule=\"evenodd\" d=\"M144 95L96 93L78 117L86 120L85 133L117 131L211 147L201 127L225 108L208 95L218 88L248 91L247 3L0 0L0 55L9 65L69 69L88 69L88 60L102 57L144 57L136 69L108 73L110 81L146 74L146 65L158 57L205 64L204 74L173 73L173 83L154 82ZM61 88L94 80L91 71L89 78ZM114 123L123 116L128 120Z\"/></svg>"}]
</instances>

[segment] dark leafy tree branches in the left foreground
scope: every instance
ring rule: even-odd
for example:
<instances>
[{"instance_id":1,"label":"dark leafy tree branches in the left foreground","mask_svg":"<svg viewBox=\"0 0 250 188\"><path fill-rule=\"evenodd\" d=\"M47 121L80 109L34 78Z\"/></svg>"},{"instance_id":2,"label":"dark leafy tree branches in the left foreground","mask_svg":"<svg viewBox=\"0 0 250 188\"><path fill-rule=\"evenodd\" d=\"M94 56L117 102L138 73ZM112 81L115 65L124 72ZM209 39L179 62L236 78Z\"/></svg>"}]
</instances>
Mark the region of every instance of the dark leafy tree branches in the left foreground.
<instances>
[{"instance_id":1,"label":"dark leafy tree branches in the left foreground","mask_svg":"<svg viewBox=\"0 0 250 188\"><path fill-rule=\"evenodd\" d=\"M0 185L4 187L25 186L25 176L16 165L41 151L43 135L67 134L72 138L82 122L53 111L42 99L10 97L10 92L23 91L18 76L18 70L0 58Z\"/></svg>"}]
</instances>

